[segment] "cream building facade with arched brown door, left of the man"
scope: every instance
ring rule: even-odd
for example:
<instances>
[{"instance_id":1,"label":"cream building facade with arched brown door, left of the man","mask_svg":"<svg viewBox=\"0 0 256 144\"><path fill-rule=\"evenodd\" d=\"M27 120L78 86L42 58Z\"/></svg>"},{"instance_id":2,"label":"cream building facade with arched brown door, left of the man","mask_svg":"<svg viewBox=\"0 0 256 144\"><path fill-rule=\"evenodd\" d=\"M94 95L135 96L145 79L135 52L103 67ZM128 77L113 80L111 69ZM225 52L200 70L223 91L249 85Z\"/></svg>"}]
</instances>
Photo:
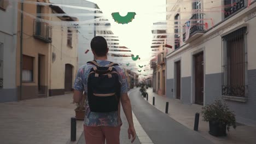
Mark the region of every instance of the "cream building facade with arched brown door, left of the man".
<instances>
[{"instance_id":1,"label":"cream building facade with arched brown door, left of the man","mask_svg":"<svg viewBox=\"0 0 256 144\"><path fill-rule=\"evenodd\" d=\"M51 6L53 14L65 14L60 7ZM75 22L76 17L51 16L54 22ZM49 54L49 96L73 91L78 70L78 30L76 27L56 25Z\"/></svg>"}]
</instances>

